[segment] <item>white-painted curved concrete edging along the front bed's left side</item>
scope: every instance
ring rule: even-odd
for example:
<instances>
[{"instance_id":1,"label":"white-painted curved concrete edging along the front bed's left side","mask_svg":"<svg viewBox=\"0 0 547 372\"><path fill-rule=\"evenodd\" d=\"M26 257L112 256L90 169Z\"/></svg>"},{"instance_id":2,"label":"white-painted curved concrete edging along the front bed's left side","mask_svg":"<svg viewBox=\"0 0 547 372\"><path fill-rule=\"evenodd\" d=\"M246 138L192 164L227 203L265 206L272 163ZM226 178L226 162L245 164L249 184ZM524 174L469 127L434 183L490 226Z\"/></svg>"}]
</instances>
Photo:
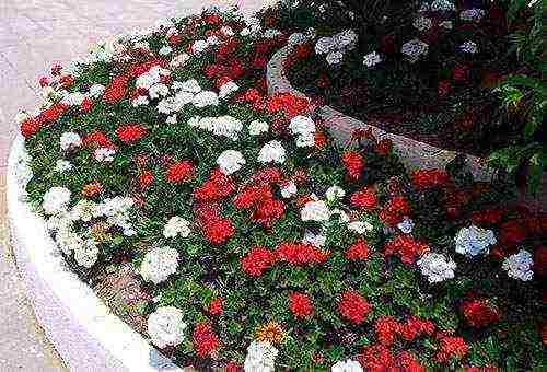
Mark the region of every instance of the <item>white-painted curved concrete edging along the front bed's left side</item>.
<instances>
[{"instance_id":1,"label":"white-painted curved concrete edging along the front bed's left side","mask_svg":"<svg viewBox=\"0 0 547 372\"><path fill-rule=\"evenodd\" d=\"M36 318L70 371L183 371L124 323L66 265L44 220L24 201L19 136L8 161L8 221L19 270Z\"/></svg>"}]
</instances>

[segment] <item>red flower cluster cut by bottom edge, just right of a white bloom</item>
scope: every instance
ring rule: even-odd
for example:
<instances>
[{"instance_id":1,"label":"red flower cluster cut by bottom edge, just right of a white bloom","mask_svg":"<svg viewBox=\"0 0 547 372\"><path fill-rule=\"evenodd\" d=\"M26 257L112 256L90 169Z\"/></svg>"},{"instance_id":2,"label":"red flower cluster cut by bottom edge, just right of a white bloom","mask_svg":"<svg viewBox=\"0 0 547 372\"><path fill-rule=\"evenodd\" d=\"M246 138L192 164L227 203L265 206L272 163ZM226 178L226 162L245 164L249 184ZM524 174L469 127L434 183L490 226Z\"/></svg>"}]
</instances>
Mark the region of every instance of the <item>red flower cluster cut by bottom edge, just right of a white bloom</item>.
<instances>
[{"instance_id":1,"label":"red flower cluster cut by bottom edge, just right of a white bloom","mask_svg":"<svg viewBox=\"0 0 547 372\"><path fill-rule=\"evenodd\" d=\"M424 372L416 357L408 351L400 351L394 356L383 345L364 347L358 357L359 363L369 372Z\"/></svg>"}]
</instances>

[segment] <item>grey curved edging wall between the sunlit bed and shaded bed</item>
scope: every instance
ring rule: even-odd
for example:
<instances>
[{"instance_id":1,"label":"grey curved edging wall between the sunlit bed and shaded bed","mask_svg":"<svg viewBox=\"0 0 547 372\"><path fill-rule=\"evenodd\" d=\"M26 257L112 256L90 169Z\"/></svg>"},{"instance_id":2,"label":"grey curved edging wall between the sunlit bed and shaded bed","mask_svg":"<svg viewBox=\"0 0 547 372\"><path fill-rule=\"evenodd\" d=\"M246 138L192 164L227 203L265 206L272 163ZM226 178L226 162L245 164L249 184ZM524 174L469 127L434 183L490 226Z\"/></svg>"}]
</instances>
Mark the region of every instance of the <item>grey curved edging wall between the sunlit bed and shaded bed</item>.
<instances>
[{"instance_id":1,"label":"grey curved edging wall between the sunlit bed and shaded bed","mask_svg":"<svg viewBox=\"0 0 547 372\"><path fill-rule=\"evenodd\" d=\"M268 93L290 92L300 96L305 94L292 88L287 79L283 67L284 59L292 53L293 46L287 45L279 49L269 60L267 67ZM416 141L411 138L386 132L375 126L365 124L342 113L323 106L317 109L317 114L325 120L326 126L336 139L341 142L349 140L351 132L358 128L371 128L374 136L380 139L391 139L396 154L408 170L417 168L444 168L457 152L439 149L434 146ZM480 159L474 155L466 155L467 165L477 181L490 181L493 171L480 164Z\"/></svg>"}]
</instances>

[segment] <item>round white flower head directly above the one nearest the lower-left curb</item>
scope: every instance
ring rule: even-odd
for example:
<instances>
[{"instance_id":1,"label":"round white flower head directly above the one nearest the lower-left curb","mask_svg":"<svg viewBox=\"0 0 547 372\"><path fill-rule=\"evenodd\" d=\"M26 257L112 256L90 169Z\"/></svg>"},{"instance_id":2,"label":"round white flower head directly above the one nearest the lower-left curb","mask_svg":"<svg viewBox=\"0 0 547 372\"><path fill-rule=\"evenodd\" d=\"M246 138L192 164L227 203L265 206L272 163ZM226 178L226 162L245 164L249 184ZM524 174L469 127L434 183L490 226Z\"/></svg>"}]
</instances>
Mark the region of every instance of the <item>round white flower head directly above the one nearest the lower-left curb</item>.
<instances>
[{"instance_id":1,"label":"round white flower head directly above the one nearest the lower-left curb","mask_svg":"<svg viewBox=\"0 0 547 372\"><path fill-rule=\"evenodd\" d=\"M170 275L175 274L178 267L178 252L170 247L155 247L144 255L140 265L140 275L144 281L159 284Z\"/></svg>"}]
</instances>

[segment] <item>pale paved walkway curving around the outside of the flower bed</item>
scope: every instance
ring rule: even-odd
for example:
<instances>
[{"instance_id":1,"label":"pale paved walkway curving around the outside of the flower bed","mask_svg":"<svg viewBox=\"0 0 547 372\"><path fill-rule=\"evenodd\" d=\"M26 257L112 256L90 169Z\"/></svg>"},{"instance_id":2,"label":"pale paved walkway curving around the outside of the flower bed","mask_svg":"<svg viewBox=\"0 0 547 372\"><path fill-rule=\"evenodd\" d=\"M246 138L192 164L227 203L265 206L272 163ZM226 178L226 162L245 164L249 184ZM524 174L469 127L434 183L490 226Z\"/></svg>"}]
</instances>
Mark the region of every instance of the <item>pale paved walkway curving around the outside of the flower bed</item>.
<instances>
[{"instance_id":1,"label":"pale paved walkway curving around the outside of the flower bed","mask_svg":"<svg viewBox=\"0 0 547 372\"><path fill-rule=\"evenodd\" d=\"M38 103L37 79L105 36L153 25L222 0L0 0L0 371L65 371L33 316L8 241L5 165L21 108ZM225 1L224 1L225 2ZM245 12L260 0L238 0ZM271 0L269 2L272 2Z\"/></svg>"}]
</instances>

